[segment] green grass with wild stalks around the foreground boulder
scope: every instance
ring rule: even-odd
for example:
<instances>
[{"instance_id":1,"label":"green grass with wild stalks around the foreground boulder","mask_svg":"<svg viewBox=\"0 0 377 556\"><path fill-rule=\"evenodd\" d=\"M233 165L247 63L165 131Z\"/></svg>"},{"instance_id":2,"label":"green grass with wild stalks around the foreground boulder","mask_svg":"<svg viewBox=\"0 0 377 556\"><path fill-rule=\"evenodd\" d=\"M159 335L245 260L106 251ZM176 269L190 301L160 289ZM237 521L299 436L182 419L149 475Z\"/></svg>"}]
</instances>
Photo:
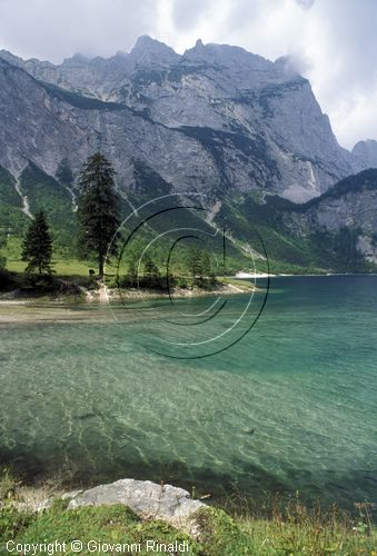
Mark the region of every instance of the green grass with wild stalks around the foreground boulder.
<instances>
[{"instance_id":1,"label":"green grass with wild stalks around the foreground boulder","mask_svg":"<svg viewBox=\"0 0 377 556\"><path fill-rule=\"evenodd\" d=\"M339 514L336 506L325 514L319 506L308 510L298 497L284 510L276 504L269 518L245 510L230 516L224 509L208 507L196 515L200 536L195 539L165 522L142 520L121 505L68 509L68 500L56 498L50 508L38 514L18 510L12 505L19 498L18 488L9 470L0 473L0 497L3 498L0 552L9 540L21 544L58 540L67 544L66 554L72 554L70 542L80 539L85 545L89 540L112 545L110 554L117 553L118 544L133 544L140 547L138 554L150 554L146 543L152 539L167 545L186 540L189 552L185 554L198 556L377 556L377 532L369 506L363 503L356 505L358 516L354 519ZM122 554L135 552L129 549ZM183 554L179 549L171 553ZM80 554L90 552L85 548Z\"/></svg>"}]
</instances>

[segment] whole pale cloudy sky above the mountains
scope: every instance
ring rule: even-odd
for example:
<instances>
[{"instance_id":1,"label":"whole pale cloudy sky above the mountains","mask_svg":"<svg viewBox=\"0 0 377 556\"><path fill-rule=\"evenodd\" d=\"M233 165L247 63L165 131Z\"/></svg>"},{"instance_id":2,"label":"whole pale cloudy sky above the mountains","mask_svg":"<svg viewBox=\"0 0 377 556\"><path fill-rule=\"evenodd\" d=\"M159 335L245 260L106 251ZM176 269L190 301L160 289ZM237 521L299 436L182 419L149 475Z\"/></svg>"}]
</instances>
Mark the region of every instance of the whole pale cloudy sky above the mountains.
<instances>
[{"instance_id":1,"label":"whole pale cloudy sky above the mountains","mask_svg":"<svg viewBox=\"0 0 377 556\"><path fill-rule=\"evenodd\" d=\"M291 54L340 145L377 139L377 0L0 0L0 48L22 58L111 56L140 34Z\"/></svg>"}]
</instances>

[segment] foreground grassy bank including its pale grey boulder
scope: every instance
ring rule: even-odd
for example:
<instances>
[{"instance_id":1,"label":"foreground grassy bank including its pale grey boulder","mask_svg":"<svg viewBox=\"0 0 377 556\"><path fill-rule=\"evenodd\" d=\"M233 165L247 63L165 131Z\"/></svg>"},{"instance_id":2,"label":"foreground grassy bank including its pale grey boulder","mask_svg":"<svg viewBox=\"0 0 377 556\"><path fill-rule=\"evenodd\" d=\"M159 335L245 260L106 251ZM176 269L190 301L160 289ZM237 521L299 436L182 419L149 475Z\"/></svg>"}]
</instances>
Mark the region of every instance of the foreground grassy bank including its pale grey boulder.
<instances>
[{"instance_id":1,"label":"foreground grassy bank including its pale grey boulder","mask_svg":"<svg viewBox=\"0 0 377 556\"><path fill-rule=\"evenodd\" d=\"M207 498L170 483L133 479L87 490L49 492L20 486L4 474L0 480L2 547L8 552L30 546L53 549L53 542L40 545L43 530L43 538L57 538L58 546L71 546L73 552L90 546L90 552L146 554L148 547L156 552L158 546L157 552L169 554L220 556L282 554L287 546L291 554L302 546L310 554L321 554L324 546L331 546L337 553L375 554L377 533L367 505L360 505L359 515L339 512L336 505L321 515L298 498L284 507L271 503L262 512L254 506L226 507ZM103 540L89 540L95 538Z\"/></svg>"}]
</instances>

